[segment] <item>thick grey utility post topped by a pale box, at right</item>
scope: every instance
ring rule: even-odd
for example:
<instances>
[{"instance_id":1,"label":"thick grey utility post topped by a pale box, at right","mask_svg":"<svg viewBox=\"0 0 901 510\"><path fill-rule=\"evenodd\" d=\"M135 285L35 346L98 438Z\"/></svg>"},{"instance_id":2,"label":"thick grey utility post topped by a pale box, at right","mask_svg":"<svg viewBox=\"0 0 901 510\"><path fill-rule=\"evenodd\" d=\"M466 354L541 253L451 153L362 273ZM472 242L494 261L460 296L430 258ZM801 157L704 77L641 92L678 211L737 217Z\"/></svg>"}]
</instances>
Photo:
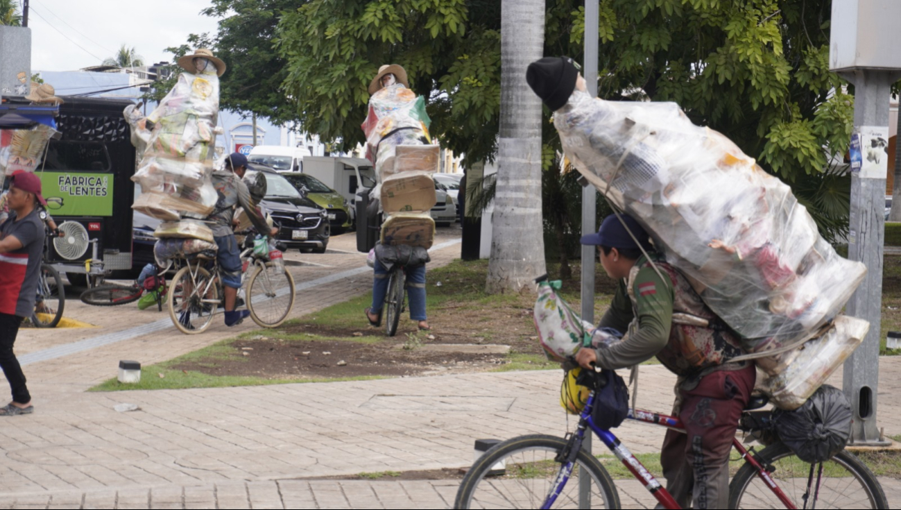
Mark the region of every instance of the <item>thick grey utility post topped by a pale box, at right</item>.
<instances>
[{"instance_id":1,"label":"thick grey utility post topped by a pale box, at right","mask_svg":"<svg viewBox=\"0 0 901 510\"><path fill-rule=\"evenodd\" d=\"M851 135L851 218L848 257L867 266L847 313L869 321L869 332L845 361L842 390L851 402L851 442L884 445L876 425L879 340L882 313L882 255L885 235L887 154L891 86L901 78L901 2L833 0L829 68L854 84ZM881 157L881 158L880 158Z\"/></svg>"}]
</instances>

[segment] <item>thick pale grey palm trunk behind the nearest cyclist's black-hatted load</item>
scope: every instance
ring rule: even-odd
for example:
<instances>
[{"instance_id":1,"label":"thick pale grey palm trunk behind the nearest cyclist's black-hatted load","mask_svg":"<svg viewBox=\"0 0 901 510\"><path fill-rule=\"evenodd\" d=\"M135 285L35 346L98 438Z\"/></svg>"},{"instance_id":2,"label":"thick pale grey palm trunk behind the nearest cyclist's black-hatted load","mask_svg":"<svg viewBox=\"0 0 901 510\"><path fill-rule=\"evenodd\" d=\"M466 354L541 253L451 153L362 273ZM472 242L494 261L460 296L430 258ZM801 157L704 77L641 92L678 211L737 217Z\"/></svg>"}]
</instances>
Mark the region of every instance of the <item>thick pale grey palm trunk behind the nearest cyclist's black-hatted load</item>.
<instances>
[{"instance_id":1,"label":"thick pale grey palm trunk behind the nearest cyclist's black-hatted load","mask_svg":"<svg viewBox=\"0 0 901 510\"><path fill-rule=\"evenodd\" d=\"M544 0L501 2L501 113L486 291L534 290L546 272L542 234L542 103L525 69L542 58Z\"/></svg>"}]
</instances>

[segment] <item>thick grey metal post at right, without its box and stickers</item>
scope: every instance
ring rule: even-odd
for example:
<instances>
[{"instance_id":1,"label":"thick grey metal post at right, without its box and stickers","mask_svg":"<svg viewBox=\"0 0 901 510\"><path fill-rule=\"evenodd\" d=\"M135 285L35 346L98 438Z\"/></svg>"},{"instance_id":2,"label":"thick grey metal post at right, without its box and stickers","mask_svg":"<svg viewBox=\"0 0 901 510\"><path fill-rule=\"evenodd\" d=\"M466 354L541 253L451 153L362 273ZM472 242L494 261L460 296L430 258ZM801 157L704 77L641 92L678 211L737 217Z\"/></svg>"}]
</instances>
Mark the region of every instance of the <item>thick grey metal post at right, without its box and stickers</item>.
<instances>
[{"instance_id":1,"label":"thick grey metal post at right, without its box and stickers","mask_svg":"<svg viewBox=\"0 0 901 510\"><path fill-rule=\"evenodd\" d=\"M857 69L842 73L842 76L854 84L855 129L881 126L887 132L891 86L901 77L901 72ZM866 159L866 153L864 158ZM885 168L887 170L887 161ZM867 276L851 296L847 313L869 321L867 337L844 363L842 390L851 401L854 413L851 424L851 442L854 444L889 443L885 438L879 437L876 426L885 200L885 171L878 178L861 178L859 174L852 174L848 258L863 262L867 266Z\"/></svg>"}]
</instances>

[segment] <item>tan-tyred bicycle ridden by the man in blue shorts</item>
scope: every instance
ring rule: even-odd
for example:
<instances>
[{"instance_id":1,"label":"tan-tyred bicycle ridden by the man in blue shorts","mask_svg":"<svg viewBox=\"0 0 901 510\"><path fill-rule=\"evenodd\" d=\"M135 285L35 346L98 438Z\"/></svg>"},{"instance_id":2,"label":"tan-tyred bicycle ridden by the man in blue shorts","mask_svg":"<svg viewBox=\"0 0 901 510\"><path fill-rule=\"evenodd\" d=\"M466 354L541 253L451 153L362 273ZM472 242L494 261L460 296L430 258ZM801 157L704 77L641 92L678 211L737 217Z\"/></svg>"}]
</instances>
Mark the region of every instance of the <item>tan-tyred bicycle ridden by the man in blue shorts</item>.
<instances>
[{"instance_id":1,"label":"tan-tyred bicycle ridden by the man in blue shorts","mask_svg":"<svg viewBox=\"0 0 901 510\"><path fill-rule=\"evenodd\" d=\"M252 243L248 236L246 241ZM279 250L286 247L277 243ZM254 254L252 244L241 251L244 288L250 318L260 327L274 328L284 323L294 307L294 278L287 269L279 270L267 257ZM250 266L252 265L252 269ZM207 269L209 268L209 269ZM244 278L250 270L250 278ZM220 305L224 305L222 276L215 255L197 253L172 278L168 292L168 311L178 331L186 334L205 332Z\"/></svg>"}]
</instances>

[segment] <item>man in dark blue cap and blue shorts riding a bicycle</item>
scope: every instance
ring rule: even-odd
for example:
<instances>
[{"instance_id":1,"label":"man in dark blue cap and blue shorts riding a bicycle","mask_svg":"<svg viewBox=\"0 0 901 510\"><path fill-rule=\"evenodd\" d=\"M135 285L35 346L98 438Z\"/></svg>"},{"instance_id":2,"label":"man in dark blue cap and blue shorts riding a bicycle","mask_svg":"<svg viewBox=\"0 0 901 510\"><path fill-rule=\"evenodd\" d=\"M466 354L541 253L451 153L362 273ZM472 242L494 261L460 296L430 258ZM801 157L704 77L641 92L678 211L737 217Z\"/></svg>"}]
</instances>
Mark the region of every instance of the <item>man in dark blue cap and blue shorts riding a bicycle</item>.
<instances>
[{"instance_id":1,"label":"man in dark blue cap and blue shorts riding a bicycle","mask_svg":"<svg viewBox=\"0 0 901 510\"><path fill-rule=\"evenodd\" d=\"M240 312L235 310L238 297L238 289L241 288L241 250L238 241L232 232L232 222L236 206L241 206L247 212L250 223L253 223L257 232L270 237L278 233L278 228L270 228L266 221L258 214L257 207L250 199L250 190L241 181L247 171L247 158L238 152L232 153L225 159L225 168L213 172L213 187L219 195L219 201L213 214L207 217L207 222L213 230L213 236L219 250L216 258L223 278L223 294L225 295L225 325L233 326L241 323L245 317L250 316L247 310ZM187 313L183 314L186 317ZM182 322L184 323L184 321Z\"/></svg>"}]
</instances>

